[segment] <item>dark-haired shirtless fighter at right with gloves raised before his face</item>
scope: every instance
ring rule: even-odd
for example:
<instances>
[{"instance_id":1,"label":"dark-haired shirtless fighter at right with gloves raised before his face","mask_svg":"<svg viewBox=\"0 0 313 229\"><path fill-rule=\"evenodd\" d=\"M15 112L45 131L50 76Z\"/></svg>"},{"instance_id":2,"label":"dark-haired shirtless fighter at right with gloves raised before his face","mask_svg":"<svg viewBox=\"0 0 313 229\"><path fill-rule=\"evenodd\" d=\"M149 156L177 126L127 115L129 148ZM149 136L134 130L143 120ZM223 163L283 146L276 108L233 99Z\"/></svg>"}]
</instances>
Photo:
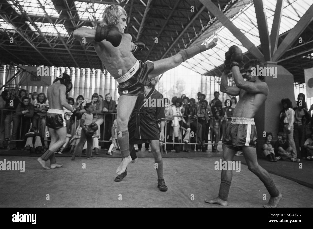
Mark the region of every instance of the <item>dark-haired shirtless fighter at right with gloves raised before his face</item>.
<instances>
[{"instance_id":1,"label":"dark-haired shirtless fighter at right with gloves raised before his face","mask_svg":"<svg viewBox=\"0 0 313 229\"><path fill-rule=\"evenodd\" d=\"M269 173L259 166L256 155L257 131L254 124L254 115L267 98L268 86L261 81L264 79L264 76L251 75L251 69L252 67L256 68L257 65L264 68L264 65L256 59L246 63L244 68L247 73L247 81L244 81L239 71L239 63L243 59L241 49L235 45L231 46L228 52L225 53L225 59L220 91L231 96L239 95L240 99L235 107L232 123L226 130L222 160L232 161L236 152L242 150L249 170L259 177L271 196L268 204L264 205L264 207L276 207L282 195L277 190ZM233 78L237 87L228 86L227 84L230 68L233 71ZM218 197L212 200L205 200L205 202L227 206L232 177L232 170L222 170Z\"/></svg>"}]
</instances>

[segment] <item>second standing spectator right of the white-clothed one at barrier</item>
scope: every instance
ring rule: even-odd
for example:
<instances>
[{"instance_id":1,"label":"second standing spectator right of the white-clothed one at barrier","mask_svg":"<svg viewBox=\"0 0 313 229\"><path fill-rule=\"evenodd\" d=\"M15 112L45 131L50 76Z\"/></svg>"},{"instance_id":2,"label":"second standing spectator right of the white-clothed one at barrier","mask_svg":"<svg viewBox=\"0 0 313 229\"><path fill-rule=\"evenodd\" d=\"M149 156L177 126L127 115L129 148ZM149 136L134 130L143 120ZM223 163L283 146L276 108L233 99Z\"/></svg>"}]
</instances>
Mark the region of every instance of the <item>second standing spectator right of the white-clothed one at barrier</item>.
<instances>
[{"instance_id":1,"label":"second standing spectator right of the white-clothed one at barrier","mask_svg":"<svg viewBox=\"0 0 313 229\"><path fill-rule=\"evenodd\" d=\"M201 135L201 147L202 152L207 152L208 145L206 143L209 142L209 126L210 126L210 110L208 110L208 101L203 100L201 106L198 107L198 123L202 125L202 135Z\"/></svg>"}]
</instances>

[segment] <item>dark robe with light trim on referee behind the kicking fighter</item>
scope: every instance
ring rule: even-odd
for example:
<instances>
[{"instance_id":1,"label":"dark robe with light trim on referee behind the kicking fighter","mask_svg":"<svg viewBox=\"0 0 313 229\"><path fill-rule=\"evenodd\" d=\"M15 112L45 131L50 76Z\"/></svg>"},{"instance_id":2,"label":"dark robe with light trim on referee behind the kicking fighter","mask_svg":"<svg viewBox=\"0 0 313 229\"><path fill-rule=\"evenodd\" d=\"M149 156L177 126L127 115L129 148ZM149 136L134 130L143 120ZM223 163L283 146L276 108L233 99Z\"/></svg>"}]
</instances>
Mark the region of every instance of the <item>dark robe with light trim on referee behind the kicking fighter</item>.
<instances>
[{"instance_id":1,"label":"dark robe with light trim on referee behind the kicking fighter","mask_svg":"<svg viewBox=\"0 0 313 229\"><path fill-rule=\"evenodd\" d=\"M128 122L130 144L149 143L151 140L159 140L158 123L166 121L164 103L163 101L162 104L156 102L156 106L151 107L149 101L158 101L157 99L162 98L162 94L154 88L146 96L144 94L138 96ZM145 99L147 100L144 101Z\"/></svg>"}]
</instances>

